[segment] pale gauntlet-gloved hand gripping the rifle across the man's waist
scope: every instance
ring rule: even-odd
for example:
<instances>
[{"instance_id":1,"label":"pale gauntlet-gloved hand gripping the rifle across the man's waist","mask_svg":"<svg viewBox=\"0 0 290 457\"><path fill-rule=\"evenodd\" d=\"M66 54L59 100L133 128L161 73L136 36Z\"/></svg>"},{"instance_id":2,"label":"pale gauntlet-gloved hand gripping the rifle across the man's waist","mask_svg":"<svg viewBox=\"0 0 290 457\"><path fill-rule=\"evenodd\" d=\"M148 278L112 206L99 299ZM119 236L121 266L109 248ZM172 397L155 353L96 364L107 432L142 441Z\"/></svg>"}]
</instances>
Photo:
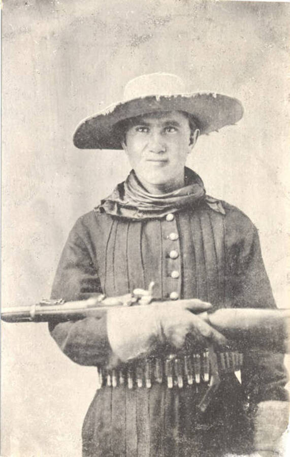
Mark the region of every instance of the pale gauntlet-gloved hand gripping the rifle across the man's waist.
<instances>
[{"instance_id":1,"label":"pale gauntlet-gloved hand gripping the rifle across the man's waist","mask_svg":"<svg viewBox=\"0 0 290 457\"><path fill-rule=\"evenodd\" d=\"M223 346L227 339L194 314L210 308L209 303L190 299L110 309L107 332L111 348L122 362L127 362L149 354L160 344L178 350L188 335L197 344Z\"/></svg>"}]
</instances>

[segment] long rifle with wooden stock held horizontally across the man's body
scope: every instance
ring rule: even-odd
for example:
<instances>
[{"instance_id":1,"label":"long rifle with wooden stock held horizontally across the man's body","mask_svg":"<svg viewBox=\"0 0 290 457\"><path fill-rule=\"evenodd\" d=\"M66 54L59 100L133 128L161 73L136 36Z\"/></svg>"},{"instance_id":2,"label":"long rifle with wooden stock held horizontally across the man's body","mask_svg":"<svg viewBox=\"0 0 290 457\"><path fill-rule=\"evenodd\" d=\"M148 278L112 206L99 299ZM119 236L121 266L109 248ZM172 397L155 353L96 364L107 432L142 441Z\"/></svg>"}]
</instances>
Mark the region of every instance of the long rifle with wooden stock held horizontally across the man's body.
<instances>
[{"instance_id":1,"label":"long rifle with wooden stock held horizontally across the man's body","mask_svg":"<svg viewBox=\"0 0 290 457\"><path fill-rule=\"evenodd\" d=\"M100 318L108 309L131 305L148 306L149 303L154 306L154 303L162 303L152 302L151 293L138 294L138 290L135 289L132 295L107 298L105 301L104 296L99 296L74 302L43 300L31 306L2 308L1 319L6 322L57 323L86 317ZM239 350L260 347L290 353L290 309L223 308L202 312L199 317L233 341Z\"/></svg>"}]
</instances>

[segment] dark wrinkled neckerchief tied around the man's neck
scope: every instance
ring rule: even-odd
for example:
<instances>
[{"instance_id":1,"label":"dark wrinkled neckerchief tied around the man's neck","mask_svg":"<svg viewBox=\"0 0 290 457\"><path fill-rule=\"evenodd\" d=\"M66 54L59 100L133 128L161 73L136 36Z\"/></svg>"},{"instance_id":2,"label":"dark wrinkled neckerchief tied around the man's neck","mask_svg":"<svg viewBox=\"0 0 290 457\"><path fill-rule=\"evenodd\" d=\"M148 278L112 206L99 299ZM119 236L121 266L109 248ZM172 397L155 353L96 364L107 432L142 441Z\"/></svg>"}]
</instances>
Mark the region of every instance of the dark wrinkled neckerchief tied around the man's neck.
<instances>
[{"instance_id":1,"label":"dark wrinkled neckerchief tied around the man's neck","mask_svg":"<svg viewBox=\"0 0 290 457\"><path fill-rule=\"evenodd\" d=\"M185 185L180 189L153 195L145 190L132 170L95 211L130 219L161 218L205 202L213 210L225 214L221 203L206 195L203 181L197 173L185 167L184 181Z\"/></svg>"}]
</instances>

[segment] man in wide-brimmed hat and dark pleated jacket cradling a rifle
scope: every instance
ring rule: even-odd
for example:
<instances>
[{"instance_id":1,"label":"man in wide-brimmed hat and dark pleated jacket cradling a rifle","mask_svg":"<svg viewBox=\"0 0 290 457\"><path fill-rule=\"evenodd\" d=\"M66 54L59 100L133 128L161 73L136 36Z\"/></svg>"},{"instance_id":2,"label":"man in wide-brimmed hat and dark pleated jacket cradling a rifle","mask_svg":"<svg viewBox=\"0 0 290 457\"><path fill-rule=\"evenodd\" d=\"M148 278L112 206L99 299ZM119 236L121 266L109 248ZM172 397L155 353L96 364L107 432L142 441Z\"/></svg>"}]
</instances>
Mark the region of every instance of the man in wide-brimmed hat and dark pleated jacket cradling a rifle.
<instances>
[{"instance_id":1,"label":"man in wide-brimmed hat and dark pleated jacket cradling a rifle","mask_svg":"<svg viewBox=\"0 0 290 457\"><path fill-rule=\"evenodd\" d=\"M185 93L178 77L153 74L76 130L77 147L122 148L133 170L76 222L52 298L99 294L106 304L135 290L142 300L154 283L156 301L50 326L73 361L98 367L84 456L275 454L287 412L282 356L248 351L242 364L202 313L275 307L257 231L185 167L199 134L242 114L231 97Z\"/></svg>"}]
</instances>

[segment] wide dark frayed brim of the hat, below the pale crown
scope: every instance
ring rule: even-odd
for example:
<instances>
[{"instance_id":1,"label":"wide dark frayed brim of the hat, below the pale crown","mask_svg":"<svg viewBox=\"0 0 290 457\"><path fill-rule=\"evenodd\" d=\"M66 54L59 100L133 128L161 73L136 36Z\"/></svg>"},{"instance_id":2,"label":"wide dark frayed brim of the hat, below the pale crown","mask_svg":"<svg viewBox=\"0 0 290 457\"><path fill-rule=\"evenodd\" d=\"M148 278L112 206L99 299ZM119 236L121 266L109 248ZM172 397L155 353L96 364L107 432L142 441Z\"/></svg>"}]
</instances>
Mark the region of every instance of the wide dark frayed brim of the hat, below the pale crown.
<instances>
[{"instance_id":1,"label":"wide dark frayed brim of the hat, below the pale crown","mask_svg":"<svg viewBox=\"0 0 290 457\"><path fill-rule=\"evenodd\" d=\"M74 145L80 149L122 149L114 126L122 120L157 111L185 111L197 121L201 134L238 122L243 116L239 100L227 95L199 92L178 95L150 95L113 104L84 119L76 128Z\"/></svg>"}]
</instances>

